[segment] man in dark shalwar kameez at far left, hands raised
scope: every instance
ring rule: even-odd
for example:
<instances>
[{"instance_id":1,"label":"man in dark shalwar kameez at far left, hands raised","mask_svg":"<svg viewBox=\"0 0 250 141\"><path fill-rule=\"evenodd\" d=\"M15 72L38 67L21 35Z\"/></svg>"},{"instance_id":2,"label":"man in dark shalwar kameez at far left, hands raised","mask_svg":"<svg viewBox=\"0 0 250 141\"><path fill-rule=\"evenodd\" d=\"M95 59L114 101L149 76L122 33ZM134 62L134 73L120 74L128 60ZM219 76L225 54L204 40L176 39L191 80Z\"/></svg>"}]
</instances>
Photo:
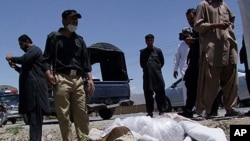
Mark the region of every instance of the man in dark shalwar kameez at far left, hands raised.
<instances>
[{"instance_id":1,"label":"man in dark shalwar kameez at far left, hands raised","mask_svg":"<svg viewBox=\"0 0 250 141\"><path fill-rule=\"evenodd\" d=\"M49 113L48 85L41 63L42 51L32 44L27 35L21 35L18 41L25 54L14 57L9 53L6 60L19 72L19 113L28 117L30 140L41 141L43 115Z\"/></svg>"}]
</instances>

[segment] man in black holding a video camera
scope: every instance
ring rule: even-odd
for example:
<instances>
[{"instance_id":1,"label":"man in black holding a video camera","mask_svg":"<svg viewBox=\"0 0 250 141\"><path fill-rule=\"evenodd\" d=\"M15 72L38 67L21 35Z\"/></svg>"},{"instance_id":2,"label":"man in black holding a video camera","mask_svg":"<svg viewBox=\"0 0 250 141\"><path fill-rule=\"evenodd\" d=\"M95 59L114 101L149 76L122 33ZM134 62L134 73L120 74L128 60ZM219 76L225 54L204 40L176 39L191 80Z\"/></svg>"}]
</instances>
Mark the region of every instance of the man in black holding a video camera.
<instances>
[{"instance_id":1,"label":"man in black holding a video camera","mask_svg":"<svg viewBox=\"0 0 250 141\"><path fill-rule=\"evenodd\" d=\"M194 8L190 8L186 12L187 21L192 28L194 25L195 15L196 10ZM192 118L197 95L197 81L199 73L199 34L194 30L187 28L180 33L179 39L184 40L188 44L189 53L186 61L188 67L183 78L187 88L187 99L183 112L178 114L187 118Z\"/></svg>"}]
</instances>

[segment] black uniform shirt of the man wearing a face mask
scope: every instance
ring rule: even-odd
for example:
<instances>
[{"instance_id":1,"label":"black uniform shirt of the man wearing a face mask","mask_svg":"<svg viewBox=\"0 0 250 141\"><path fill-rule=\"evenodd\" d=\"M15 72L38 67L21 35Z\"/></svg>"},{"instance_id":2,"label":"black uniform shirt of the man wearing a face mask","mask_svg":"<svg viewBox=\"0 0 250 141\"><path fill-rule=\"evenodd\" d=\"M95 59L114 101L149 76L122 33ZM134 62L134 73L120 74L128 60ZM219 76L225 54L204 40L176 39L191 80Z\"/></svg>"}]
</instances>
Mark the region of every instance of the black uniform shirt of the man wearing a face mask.
<instances>
[{"instance_id":1,"label":"black uniform shirt of the man wearing a face mask","mask_svg":"<svg viewBox=\"0 0 250 141\"><path fill-rule=\"evenodd\" d=\"M61 30L62 28L59 32L48 35L43 55L46 69L50 69L52 64L56 71L75 69L90 72L90 61L83 38L75 32L68 38L60 33Z\"/></svg>"}]
</instances>

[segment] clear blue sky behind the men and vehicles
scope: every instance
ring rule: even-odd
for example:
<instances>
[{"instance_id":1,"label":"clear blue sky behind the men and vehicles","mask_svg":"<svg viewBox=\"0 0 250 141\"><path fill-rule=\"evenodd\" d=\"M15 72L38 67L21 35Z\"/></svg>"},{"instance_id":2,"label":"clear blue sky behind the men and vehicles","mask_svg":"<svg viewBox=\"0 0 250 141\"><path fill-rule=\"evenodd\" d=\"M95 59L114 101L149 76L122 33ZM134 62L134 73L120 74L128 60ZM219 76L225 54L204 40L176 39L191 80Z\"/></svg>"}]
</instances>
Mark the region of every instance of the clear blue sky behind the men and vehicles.
<instances>
[{"instance_id":1,"label":"clear blue sky behind the men and vehicles","mask_svg":"<svg viewBox=\"0 0 250 141\"><path fill-rule=\"evenodd\" d=\"M142 93L142 70L139 50L144 48L144 36L155 35L155 46L165 56L163 75L166 87L173 78L173 58L179 44L178 33L189 26L185 17L188 8L196 8L201 0L2 0L0 5L0 85L18 87L18 74L6 60L7 53L23 54L17 38L28 34L42 50L46 36L58 30L61 13L75 9L82 14L77 33L87 46L97 42L111 43L124 51L131 89ZM242 23L237 0L225 0L236 15L235 34L241 48ZM243 68L243 65L238 65ZM94 69L98 77L100 70ZM179 76L180 77L180 76Z\"/></svg>"}]
</instances>

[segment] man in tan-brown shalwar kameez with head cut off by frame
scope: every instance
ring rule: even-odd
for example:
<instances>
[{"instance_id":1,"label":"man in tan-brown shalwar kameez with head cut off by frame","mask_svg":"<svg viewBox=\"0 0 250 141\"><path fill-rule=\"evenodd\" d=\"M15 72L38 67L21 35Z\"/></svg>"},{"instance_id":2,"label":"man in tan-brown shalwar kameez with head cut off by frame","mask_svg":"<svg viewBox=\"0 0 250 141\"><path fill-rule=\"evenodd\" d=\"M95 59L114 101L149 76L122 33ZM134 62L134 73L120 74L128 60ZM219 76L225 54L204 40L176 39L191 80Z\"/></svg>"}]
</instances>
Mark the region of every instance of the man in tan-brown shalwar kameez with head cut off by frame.
<instances>
[{"instance_id":1,"label":"man in tan-brown shalwar kameez with head cut off by frame","mask_svg":"<svg viewBox=\"0 0 250 141\"><path fill-rule=\"evenodd\" d=\"M222 0L204 0L197 7L194 29L200 34L200 65L196 112L211 112L219 87L225 116L242 115L234 107L238 97L235 16Z\"/></svg>"}]
</instances>

